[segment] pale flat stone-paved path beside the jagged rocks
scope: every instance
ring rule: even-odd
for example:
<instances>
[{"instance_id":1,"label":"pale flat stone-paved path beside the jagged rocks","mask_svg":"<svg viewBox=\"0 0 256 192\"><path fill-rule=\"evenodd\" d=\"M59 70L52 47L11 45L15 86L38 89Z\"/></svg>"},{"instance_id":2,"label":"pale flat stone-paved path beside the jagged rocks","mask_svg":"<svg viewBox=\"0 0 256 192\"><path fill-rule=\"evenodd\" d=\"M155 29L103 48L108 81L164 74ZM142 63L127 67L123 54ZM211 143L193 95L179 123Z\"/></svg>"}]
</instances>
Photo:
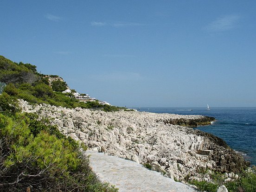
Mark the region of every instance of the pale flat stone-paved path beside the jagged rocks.
<instances>
[{"instance_id":1,"label":"pale flat stone-paved path beside the jagged rocks","mask_svg":"<svg viewBox=\"0 0 256 192\"><path fill-rule=\"evenodd\" d=\"M134 161L89 150L86 154L90 154L90 166L99 179L115 185L119 192L196 192Z\"/></svg>"}]
</instances>

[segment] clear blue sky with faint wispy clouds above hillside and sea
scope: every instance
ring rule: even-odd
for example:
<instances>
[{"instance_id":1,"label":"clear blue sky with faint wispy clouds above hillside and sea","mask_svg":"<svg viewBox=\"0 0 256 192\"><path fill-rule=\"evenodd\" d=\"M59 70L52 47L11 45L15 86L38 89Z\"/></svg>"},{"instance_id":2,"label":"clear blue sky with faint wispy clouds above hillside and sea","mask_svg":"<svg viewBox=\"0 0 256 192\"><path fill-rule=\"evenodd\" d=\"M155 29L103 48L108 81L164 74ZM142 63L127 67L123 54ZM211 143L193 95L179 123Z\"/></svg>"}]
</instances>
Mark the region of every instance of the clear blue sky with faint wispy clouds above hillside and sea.
<instances>
[{"instance_id":1,"label":"clear blue sky with faint wispy clouds above hillside and sea","mask_svg":"<svg viewBox=\"0 0 256 192\"><path fill-rule=\"evenodd\" d=\"M1 0L0 55L117 106L256 107L256 0Z\"/></svg>"}]
</instances>

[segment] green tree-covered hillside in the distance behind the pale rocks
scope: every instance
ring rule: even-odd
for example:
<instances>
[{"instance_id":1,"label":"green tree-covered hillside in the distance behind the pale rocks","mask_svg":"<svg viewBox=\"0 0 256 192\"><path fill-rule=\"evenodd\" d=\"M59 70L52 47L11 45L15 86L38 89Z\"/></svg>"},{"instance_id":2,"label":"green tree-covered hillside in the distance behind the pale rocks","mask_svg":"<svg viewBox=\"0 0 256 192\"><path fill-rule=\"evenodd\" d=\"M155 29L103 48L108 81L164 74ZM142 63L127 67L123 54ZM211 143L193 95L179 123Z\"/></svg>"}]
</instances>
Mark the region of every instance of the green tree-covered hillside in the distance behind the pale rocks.
<instances>
[{"instance_id":1,"label":"green tree-covered hillside in the distance behind the pale rocks","mask_svg":"<svg viewBox=\"0 0 256 192\"><path fill-rule=\"evenodd\" d=\"M72 98L71 93L62 93L67 88L66 82L56 80L50 86L49 77L56 78L58 76L40 74L35 65L23 64L22 62L18 64L0 56L0 82L7 84L4 92L10 96L30 103L46 103L71 109L76 107L83 109L103 108L102 110L106 112L126 109L101 105L98 101L80 102L78 99ZM76 91L72 90L73 92Z\"/></svg>"}]
</instances>

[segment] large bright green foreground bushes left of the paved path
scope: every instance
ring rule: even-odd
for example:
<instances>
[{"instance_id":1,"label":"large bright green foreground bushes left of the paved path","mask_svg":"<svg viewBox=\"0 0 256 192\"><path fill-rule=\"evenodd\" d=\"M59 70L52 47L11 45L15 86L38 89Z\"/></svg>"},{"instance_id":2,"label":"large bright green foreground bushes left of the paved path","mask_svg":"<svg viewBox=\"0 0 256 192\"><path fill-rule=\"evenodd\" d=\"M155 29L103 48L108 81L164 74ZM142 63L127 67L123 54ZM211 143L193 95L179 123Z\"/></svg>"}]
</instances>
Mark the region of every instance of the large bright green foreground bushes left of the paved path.
<instances>
[{"instance_id":1,"label":"large bright green foreground bushes left of the paved path","mask_svg":"<svg viewBox=\"0 0 256 192\"><path fill-rule=\"evenodd\" d=\"M0 191L116 192L101 183L80 146L47 119L20 113L15 97L0 95Z\"/></svg>"}]
</instances>

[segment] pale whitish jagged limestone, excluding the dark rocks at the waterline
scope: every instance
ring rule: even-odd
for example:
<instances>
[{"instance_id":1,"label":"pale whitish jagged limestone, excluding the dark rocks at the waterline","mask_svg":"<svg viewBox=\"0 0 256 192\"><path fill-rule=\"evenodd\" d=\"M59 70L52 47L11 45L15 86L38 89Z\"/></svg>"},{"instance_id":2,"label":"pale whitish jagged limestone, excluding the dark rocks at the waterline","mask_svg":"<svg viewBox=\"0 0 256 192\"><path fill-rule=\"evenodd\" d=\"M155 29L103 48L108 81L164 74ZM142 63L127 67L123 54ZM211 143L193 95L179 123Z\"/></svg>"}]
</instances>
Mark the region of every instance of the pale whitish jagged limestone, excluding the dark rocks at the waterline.
<instances>
[{"instance_id":1,"label":"pale whitish jagged limestone, excluding the dark rocks at the waterline","mask_svg":"<svg viewBox=\"0 0 256 192\"><path fill-rule=\"evenodd\" d=\"M215 166L210 157L198 154L209 142L207 138L187 134L191 128L163 122L180 118L198 119L202 118L201 115L136 111L106 113L46 104L31 106L25 101L21 101L21 106L40 117L53 118L52 124L63 134L82 141L91 149L141 164L150 163L154 170L166 172L170 178L182 179L200 167L211 169Z\"/></svg>"}]
</instances>

